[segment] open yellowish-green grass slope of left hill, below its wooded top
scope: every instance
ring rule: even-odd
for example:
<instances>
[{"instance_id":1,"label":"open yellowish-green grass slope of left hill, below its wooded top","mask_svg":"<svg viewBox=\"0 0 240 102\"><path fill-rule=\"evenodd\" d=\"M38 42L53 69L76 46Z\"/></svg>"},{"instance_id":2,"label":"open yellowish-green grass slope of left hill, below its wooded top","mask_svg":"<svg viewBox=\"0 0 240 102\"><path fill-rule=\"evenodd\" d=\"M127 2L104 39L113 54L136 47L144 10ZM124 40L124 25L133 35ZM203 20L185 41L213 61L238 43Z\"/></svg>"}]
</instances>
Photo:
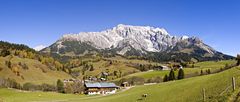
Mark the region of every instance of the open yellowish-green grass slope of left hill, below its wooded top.
<instances>
[{"instance_id":1,"label":"open yellowish-green grass slope of left hill, below its wooded top","mask_svg":"<svg viewBox=\"0 0 240 102\"><path fill-rule=\"evenodd\" d=\"M9 57L0 57L0 77L15 79L18 83L31 82L33 84L55 84L57 79L67 79L71 78L70 75L63 71L51 70L48 66L42 64L41 62L33 59L12 57L11 63L17 68L20 75L14 73L13 69L6 66L5 62L9 61ZM28 69L22 68L19 63L26 64Z\"/></svg>"}]
</instances>

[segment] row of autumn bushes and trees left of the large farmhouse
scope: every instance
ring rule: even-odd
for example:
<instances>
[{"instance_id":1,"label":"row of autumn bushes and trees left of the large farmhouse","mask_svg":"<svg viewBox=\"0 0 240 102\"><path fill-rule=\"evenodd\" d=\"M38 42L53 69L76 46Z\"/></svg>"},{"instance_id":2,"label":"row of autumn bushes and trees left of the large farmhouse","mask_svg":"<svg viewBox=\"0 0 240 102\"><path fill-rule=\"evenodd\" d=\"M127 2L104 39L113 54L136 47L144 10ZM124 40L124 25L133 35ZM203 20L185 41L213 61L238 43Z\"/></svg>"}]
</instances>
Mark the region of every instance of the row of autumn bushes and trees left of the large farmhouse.
<instances>
[{"instance_id":1,"label":"row of autumn bushes and trees left of the large farmhouse","mask_svg":"<svg viewBox=\"0 0 240 102\"><path fill-rule=\"evenodd\" d=\"M79 93L82 94L85 90L84 84L81 81L77 82L67 82L63 83L61 80L57 80L56 86L50 84L32 84L32 83L24 83L23 85L17 83L14 79L4 79L0 78L0 88L14 88L19 90L26 91L51 91L51 92L59 92L59 93Z\"/></svg>"}]
</instances>

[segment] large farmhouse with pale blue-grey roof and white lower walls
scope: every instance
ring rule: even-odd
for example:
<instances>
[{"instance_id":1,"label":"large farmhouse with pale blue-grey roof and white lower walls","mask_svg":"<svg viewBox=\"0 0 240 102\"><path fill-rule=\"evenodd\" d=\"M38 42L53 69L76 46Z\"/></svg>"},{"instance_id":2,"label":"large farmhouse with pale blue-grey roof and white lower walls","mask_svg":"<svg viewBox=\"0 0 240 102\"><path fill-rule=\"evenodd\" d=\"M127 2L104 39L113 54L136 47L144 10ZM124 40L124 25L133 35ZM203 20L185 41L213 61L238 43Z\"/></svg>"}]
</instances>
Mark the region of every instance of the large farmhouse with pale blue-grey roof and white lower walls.
<instances>
[{"instance_id":1,"label":"large farmhouse with pale blue-grey roof and white lower walls","mask_svg":"<svg viewBox=\"0 0 240 102\"><path fill-rule=\"evenodd\" d=\"M118 88L114 83L108 82L88 82L85 83L85 87L88 95L114 94Z\"/></svg>"}]
</instances>

